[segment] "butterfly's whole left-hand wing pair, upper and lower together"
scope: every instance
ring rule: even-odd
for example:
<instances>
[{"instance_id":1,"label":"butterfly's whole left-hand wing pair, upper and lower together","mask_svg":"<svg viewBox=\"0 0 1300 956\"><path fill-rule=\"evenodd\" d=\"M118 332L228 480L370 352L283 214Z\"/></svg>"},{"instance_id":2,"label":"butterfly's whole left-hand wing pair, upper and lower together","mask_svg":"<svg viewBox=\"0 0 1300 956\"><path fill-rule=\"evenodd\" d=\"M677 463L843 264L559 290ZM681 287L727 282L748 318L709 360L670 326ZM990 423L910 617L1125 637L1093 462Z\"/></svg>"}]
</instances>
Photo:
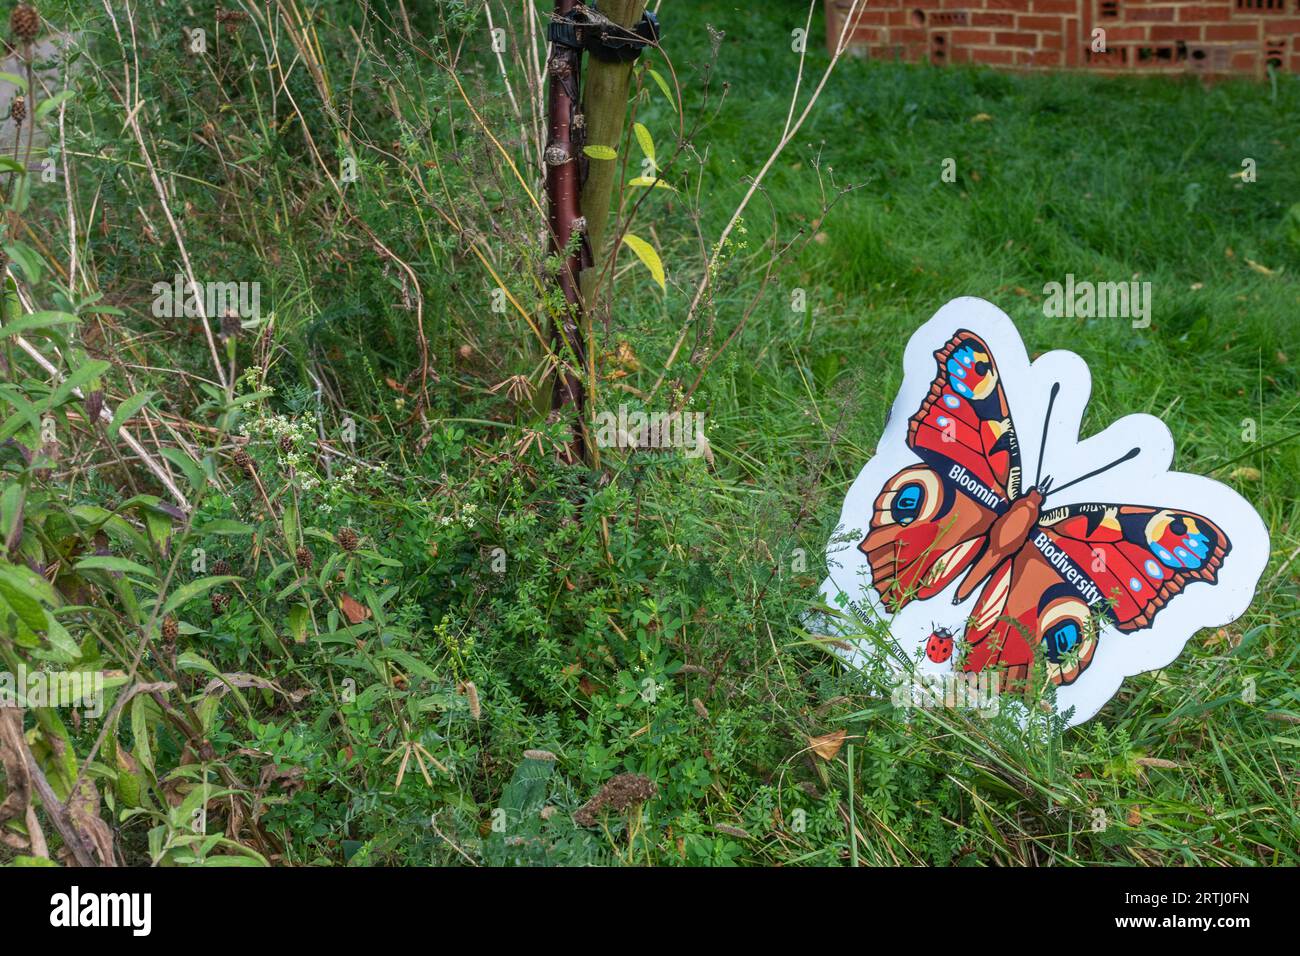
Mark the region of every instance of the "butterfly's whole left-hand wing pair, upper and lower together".
<instances>
[{"instance_id":1,"label":"butterfly's whole left-hand wing pair, upper and lower together","mask_svg":"<svg viewBox=\"0 0 1300 956\"><path fill-rule=\"evenodd\" d=\"M933 597L970 567L1019 494L1019 444L988 345L961 330L935 360L939 373L907 421L907 446L923 464L885 483L858 545L890 611Z\"/></svg>"}]
</instances>

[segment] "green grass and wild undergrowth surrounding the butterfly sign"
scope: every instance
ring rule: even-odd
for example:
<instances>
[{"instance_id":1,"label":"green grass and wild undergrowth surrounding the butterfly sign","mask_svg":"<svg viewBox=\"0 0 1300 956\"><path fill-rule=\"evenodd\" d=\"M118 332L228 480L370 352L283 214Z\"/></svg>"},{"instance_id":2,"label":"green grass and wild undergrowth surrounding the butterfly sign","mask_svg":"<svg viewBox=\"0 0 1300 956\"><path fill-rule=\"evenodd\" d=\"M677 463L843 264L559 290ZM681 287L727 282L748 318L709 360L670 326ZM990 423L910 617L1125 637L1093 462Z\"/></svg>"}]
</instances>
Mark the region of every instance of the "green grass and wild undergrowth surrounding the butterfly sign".
<instances>
[{"instance_id":1,"label":"green grass and wild undergrowth surrounding the butterfly sign","mask_svg":"<svg viewBox=\"0 0 1300 956\"><path fill-rule=\"evenodd\" d=\"M416 29L458 35L463 13L459 4L433 4ZM597 323L604 408L638 403L664 371L702 274L701 251L777 140L798 65L789 40L802 26L798 5L701 0L664 4L660 14L688 129L705 118L693 152L664 164L677 191L656 190L630 224L659 248L668 286L660 293L630 254L619 259L612 308ZM199 503L192 531L178 528L161 546L157 516L151 524L140 505L112 531L112 553L152 568L156 581L55 575L83 662L124 667L146 633L142 679L179 684L169 697L176 713L142 698L91 769L124 857L1300 861L1300 563L1292 561L1300 549L1300 82L1204 86L844 60L762 183L745 232L733 235L698 325L714 324L708 351L689 360L693 330L649 402L667 407L712 359L690 399L706 415L712 464L612 453L594 475L558 464L540 444L563 438L562 424L545 421L550 381L538 375L540 347L520 316L491 311L498 280L471 239L433 212L432 203L454 208L489 237L484 258L545 325L540 233L519 182L445 72L419 56L358 59L348 25L361 26L355 5L321 5L324 69L351 125L326 116L307 70L289 87L328 164L335 151L361 157L363 178L344 202L287 101L280 98L269 118L266 86L240 73L240 57L254 55L248 27L224 48L222 82L213 83L159 39L165 17L140 23L148 73L168 78L155 90L151 148L177 176L176 203L187 203L190 255L208 276L260 280L264 308L274 310L265 341L259 329L231 346L235 377L248 375L237 394L260 386L273 394L233 402L195 378L213 375L198 325L150 315L142 289L170 278L177 250L135 144L121 134L124 113L108 82L121 75L121 51L101 22L83 23L99 36L70 124L79 152L94 157L77 168L83 273L124 313L82 310L84 352L70 351L68 367L116 356L114 405L157 392L150 408L170 415L176 431L156 418L156 444L181 455L183 436L183 458L192 453L207 470L188 472ZM707 100L706 25L725 31ZM481 26L465 34L456 75L510 142L508 101ZM365 36L385 49L402 46L386 27ZM281 55L294 59L287 48ZM650 64L667 73L662 60ZM805 95L824 65L824 51L810 49ZM660 156L672 156L676 116L654 83L642 82L636 118ZM404 130L386 105L390 90ZM200 142L204 121L214 130ZM399 151L395 140L403 140ZM507 148L528 170L525 155ZM422 170L428 194L411 187L396 156ZM1232 177L1247 157L1257 182ZM953 183L940 177L945 159L957 164ZM826 199L842 186L855 189ZM96 215L135 221L133 209L143 208L161 235L87 224L95 196ZM39 226L31 217L34 229L46 247L65 248L62 196L42 208L49 215ZM412 415L419 349L403 273L376 252L367 230L419 276L434 376L422 421ZM764 285L772 248L792 239ZM1150 328L1045 317L1043 285L1067 273L1150 281ZM57 302L48 280L32 286L38 300ZM796 290L806 293L806 312L790 310ZM1170 667L1126 680L1097 718L1063 734L1026 735L1009 719L956 711L907 718L803 630L844 493L871 457L898 388L904 346L958 295L1004 308L1031 354L1065 347L1087 360L1086 434L1135 411L1161 416L1176 441L1175 467L1234 485L1271 535L1269 567L1245 617L1195 635ZM715 358L746 313L744 330ZM620 345L636 362L616 358ZM625 375L614 377L618 365ZM9 368L6 380L29 401L47 394L27 359ZM512 401L500 388L510 376L529 376L534 398ZM257 438L272 415L318 415L334 451L385 471L304 481L324 475L309 421L292 440L302 455L294 473L274 442L248 446L268 503L230 459L240 425ZM346 419L360 427L355 447L338 438ZM1253 444L1242 437L1245 419L1257 427ZM44 549L48 564L60 542L99 544L66 507L122 505L130 483L161 490L79 421L61 425L69 464L52 479L18 463L5 475L40 503L29 506L27 520L42 529L31 548ZM27 431L16 434L35 441ZM346 460L335 458L334 467ZM218 533L216 523L230 519L251 535ZM344 525L361 533L359 550L334 544ZM306 583L289 589L303 542L315 563ZM209 610L205 592L177 605L173 661L147 611L153 594L166 592L160 581L172 562L182 562L177 580L190 580L187 555L199 545L228 558L243 580L217 584L231 597L224 613ZM491 564L497 548L503 574ZM91 598L79 591L86 584L96 589ZM343 593L368 606L368 620L341 615ZM205 702L209 669L254 672L281 689ZM200 718L212 747L203 754L186 730ZM849 745L833 758L810 749L810 737L836 731ZM39 732L60 735L52 723ZM84 760L96 732L64 727L62 736ZM555 760L525 758L525 750ZM424 756L438 761L424 761L428 778ZM49 773L57 791L53 766ZM656 796L607 814L601 827L575 826L572 813L623 773L650 778ZM198 779L254 792L264 810L257 827L248 814L231 821L213 801L211 830L226 827L231 844L196 853L174 797L192 795ZM556 812L543 819L545 805ZM493 826L498 819L503 831Z\"/></svg>"}]
</instances>

